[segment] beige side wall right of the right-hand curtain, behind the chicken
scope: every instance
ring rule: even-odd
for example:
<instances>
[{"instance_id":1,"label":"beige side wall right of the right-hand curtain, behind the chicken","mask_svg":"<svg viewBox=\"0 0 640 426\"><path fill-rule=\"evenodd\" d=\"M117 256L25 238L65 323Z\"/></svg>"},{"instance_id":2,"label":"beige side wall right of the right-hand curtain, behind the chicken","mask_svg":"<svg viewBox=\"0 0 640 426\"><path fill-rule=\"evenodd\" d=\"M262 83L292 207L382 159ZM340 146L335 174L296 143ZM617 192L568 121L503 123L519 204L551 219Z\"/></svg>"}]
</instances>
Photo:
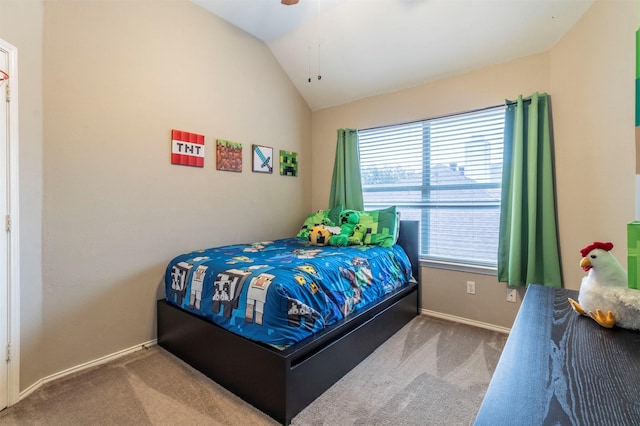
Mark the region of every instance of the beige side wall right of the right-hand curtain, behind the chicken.
<instances>
[{"instance_id":1,"label":"beige side wall right of the right-hand curtain, behind the chicken","mask_svg":"<svg viewBox=\"0 0 640 426\"><path fill-rule=\"evenodd\" d=\"M597 1L551 51L564 284L578 289L579 250L611 241L626 266L635 218L636 1Z\"/></svg>"}]
</instances>

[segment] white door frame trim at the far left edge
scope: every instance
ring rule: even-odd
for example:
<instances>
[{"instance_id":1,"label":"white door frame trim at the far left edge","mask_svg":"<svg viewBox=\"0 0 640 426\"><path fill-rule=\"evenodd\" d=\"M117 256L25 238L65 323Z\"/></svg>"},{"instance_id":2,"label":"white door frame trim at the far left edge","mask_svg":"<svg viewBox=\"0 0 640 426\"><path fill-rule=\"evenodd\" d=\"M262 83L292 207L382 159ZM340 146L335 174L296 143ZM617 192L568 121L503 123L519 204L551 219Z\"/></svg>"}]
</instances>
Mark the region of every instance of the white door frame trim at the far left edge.
<instances>
[{"instance_id":1,"label":"white door frame trim at the far left edge","mask_svg":"<svg viewBox=\"0 0 640 426\"><path fill-rule=\"evenodd\" d=\"M9 147L7 155L7 207L10 220L3 219L7 232L7 259L2 259L9 273L7 289L7 405L11 406L20 399L20 221L19 221L19 185L18 185L18 49L0 39L0 49L7 53L9 59ZM5 90L4 87L2 90ZM3 295L4 297L4 295ZM4 383L2 384L5 385Z\"/></svg>"}]
</instances>

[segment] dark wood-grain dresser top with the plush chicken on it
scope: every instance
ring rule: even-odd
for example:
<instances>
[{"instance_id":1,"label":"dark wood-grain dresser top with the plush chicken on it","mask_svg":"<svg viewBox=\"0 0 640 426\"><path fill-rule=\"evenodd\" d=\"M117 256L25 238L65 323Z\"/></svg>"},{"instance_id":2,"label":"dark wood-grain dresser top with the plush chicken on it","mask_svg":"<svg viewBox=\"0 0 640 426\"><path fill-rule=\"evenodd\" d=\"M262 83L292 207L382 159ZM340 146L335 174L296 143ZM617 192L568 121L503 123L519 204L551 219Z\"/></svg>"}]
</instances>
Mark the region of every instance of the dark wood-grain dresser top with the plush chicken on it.
<instances>
[{"instance_id":1,"label":"dark wood-grain dresser top with the plush chicken on it","mask_svg":"<svg viewBox=\"0 0 640 426\"><path fill-rule=\"evenodd\" d=\"M576 314L577 296L529 286L476 425L640 425L640 332Z\"/></svg>"}]
</instances>

